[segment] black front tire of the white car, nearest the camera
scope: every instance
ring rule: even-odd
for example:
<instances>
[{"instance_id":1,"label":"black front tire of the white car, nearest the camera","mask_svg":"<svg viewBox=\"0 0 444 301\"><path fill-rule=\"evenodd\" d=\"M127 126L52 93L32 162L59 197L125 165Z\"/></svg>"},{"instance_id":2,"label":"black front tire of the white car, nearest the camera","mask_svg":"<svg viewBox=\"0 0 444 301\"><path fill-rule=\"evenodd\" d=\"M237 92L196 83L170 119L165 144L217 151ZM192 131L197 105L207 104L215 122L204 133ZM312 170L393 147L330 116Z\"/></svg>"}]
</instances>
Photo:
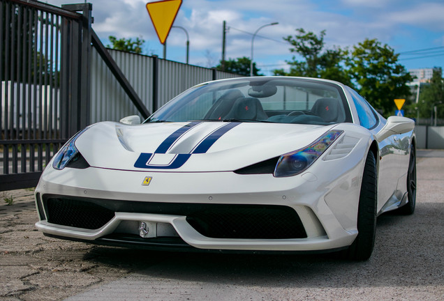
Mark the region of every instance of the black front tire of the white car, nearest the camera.
<instances>
[{"instance_id":1,"label":"black front tire of the white car, nearest the camera","mask_svg":"<svg viewBox=\"0 0 444 301\"><path fill-rule=\"evenodd\" d=\"M343 251L343 257L353 261L364 261L370 258L373 252L376 236L376 200L378 180L376 176L376 160L371 153L367 154L360 202L357 210L357 236L348 249Z\"/></svg>"}]
</instances>

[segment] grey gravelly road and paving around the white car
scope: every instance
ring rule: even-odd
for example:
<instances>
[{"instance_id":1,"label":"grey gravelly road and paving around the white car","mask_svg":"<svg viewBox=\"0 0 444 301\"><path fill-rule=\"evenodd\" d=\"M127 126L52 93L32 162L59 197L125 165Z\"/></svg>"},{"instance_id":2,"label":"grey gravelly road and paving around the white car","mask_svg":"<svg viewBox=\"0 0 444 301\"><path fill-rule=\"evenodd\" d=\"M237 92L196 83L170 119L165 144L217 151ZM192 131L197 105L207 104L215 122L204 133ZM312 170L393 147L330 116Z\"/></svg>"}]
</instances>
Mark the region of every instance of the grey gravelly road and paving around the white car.
<instances>
[{"instance_id":1,"label":"grey gravelly road and paving around the white car","mask_svg":"<svg viewBox=\"0 0 444 301\"><path fill-rule=\"evenodd\" d=\"M56 240L34 227L32 191L0 192L0 300L444 300L444 157L420 158L417 173L415 214L378 217L362 263Z\"/></svg>"}]
</instances>

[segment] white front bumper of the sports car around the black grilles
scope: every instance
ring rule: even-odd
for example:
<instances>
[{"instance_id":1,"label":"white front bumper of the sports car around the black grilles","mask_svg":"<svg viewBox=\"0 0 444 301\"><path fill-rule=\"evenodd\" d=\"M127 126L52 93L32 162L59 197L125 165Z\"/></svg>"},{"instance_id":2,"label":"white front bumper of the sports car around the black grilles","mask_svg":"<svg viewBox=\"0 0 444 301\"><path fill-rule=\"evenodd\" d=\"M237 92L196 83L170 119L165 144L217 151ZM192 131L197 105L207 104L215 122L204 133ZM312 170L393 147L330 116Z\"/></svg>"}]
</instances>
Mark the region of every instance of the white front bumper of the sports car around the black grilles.
<instances>
[{"instance_id":1,"label":"white front bumper of the sports car around the black grilles","mask_svg":"<svg viewBox=\"0 0 444 301\"><path fill-rule=\"evenodd\" d=\"M89 167L56 171L49 165L38 187L36 204L40 221L38 230L50 236L92 243L122 242L122 233L156 245L162 237L175 237L198 249L315 252L340 249L357 236L356 215L359 199L361 164L357 161L338 170L337 164L323 162L310 172L290 178L272 175L238 175L230 171L217 173L173 173L119 171ZM330 169L330 172L329 171ZM332 173L334 172L334 177ZM149 185L142 185L151 177ZM101 200L111 204L114 216L98 229L54 224L48 219L46 200L50 196L84 201ZM303 225L304 238L214 238L202 235L187 221L186 214L162 211L131 210L133 206L114 203L219 204L223 206L283 206L297 213ZM108 205L107 205L108 206ZM114 206L114 207L113 207ZM136 206L137 207L137 206ZM148 206L149 207L149 206ZM156 231L141 239L141 222ZM254 224L254 222L253 222ZM253 225L254 226L254 225ZM167 229L157 231L157 229ZM137 239L136 239L137 238ZM131 239L126 239L131 245ZM163 242L162 242L163 243ZM112 244L112 243L111 243ZM168 244L167 244L168 245ZM174 244L173 244L174 245Z\"/></svg>"}]
</instances>

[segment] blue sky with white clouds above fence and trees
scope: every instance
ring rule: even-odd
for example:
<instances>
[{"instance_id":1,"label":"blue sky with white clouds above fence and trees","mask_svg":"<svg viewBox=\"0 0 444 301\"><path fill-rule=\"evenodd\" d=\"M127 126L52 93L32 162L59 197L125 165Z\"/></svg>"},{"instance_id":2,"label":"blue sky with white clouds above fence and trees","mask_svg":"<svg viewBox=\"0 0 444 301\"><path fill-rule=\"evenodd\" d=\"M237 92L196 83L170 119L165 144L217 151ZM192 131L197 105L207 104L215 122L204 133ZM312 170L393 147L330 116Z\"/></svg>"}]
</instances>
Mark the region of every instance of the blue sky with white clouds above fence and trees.
<instances>
[{"instance_id":1,"label":"blue sky with white clouds above fence and trees","mask_svg":"<svg viewBox=\"0 0 444 301\"><path fill-rule=\"evenodd\" d=\"M61 6L82 1L47 0ZM145 54L163 57L163 45L145 5L147 0L91 0L93 29L104 45L109 36L142 38ZM223 21L228 26L225 59L251 56L264 75L288 69L295 54L283 37L303 28L319 34L325 30L325 47L349 47L365 38L376 38L399 53L407 69L444 67L443 0L183 0L174 26L182 26L190 37L190 63L217 65L222 56ZM186 35L171 29L167 59L186 61ZM296 59L300 59L296 56Z\"/></svg>"}]
</instances>

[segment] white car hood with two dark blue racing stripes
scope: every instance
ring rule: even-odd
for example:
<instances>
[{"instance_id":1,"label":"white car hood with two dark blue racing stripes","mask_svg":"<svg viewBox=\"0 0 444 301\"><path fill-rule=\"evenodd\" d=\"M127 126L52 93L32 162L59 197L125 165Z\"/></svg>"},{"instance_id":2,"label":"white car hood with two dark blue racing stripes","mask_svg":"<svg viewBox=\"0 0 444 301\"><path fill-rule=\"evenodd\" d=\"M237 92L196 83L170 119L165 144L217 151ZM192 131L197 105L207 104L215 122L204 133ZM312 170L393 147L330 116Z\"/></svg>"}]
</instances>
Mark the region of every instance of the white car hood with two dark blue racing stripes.
<instances>
[{"instance_id":1,"label":"white car hood with two dark blue racing stripes","mask_svg":"<svg viewBox=\"0 0 444 301\"><path fill-rule=\"evenodd\" d=\"M91 167L233 171L308 146L334 125L147 123L92 125L75 141Z\"/></svg>"}]
</instances>

